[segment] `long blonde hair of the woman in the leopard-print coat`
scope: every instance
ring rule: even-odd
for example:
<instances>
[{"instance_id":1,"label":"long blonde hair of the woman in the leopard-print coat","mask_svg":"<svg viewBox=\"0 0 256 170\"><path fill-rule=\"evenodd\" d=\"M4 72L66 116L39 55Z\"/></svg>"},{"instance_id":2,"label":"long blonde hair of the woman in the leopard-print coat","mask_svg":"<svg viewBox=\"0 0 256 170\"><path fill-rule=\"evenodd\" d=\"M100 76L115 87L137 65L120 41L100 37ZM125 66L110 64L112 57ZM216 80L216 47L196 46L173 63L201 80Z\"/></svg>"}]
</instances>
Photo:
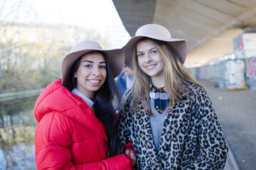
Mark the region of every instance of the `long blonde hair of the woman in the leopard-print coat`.
<instances>
[{"instance_id":1,"label":"long blonde hair of the woman in the leopard-print coat","mask_svg":"<svg viewBox=\"0 0 256 170\"><path fill-rule=\"evenodd\" d=\"M164 62L165 87L170 99L168 108L173 108L176 101L183 102L180 99L183 96L191 98L188 95L188 93L191 92L188 86L190 86L191 83L198 84L198 82L190 70L181 64L172 47L164 41L153 40L151 38L143 38L139 40L139 42L141 41L153 43ZM134 108L134 112L139 111L137 106L139 102L142 102L146 113L152 115L149 99L151 77L145 74L139 67L137 45L134 47L132 62L135 71L135 79L131 91L133 97L132 108ZM201 86L201 84L198 85Z\"/></svg>"}]
</instances>

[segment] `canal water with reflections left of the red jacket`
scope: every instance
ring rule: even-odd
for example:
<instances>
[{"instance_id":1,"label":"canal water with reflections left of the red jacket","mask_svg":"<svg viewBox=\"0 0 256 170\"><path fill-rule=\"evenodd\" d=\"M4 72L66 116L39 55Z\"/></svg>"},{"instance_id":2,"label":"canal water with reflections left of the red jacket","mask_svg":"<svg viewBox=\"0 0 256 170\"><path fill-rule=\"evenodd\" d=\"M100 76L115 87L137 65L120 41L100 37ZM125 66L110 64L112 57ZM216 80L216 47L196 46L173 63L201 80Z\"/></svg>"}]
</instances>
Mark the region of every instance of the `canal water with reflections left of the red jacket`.
<instances>
[{"instance_id":1,"label":"canal water with reflections left of the red jacket","mask_svg":"<svg viewBox=\"0 0 256 170\"><path fill-rule=\"evenodd\" d=\"M0 170L33 170L38 96L0 102Z\"/></svg>"}]
</instances>

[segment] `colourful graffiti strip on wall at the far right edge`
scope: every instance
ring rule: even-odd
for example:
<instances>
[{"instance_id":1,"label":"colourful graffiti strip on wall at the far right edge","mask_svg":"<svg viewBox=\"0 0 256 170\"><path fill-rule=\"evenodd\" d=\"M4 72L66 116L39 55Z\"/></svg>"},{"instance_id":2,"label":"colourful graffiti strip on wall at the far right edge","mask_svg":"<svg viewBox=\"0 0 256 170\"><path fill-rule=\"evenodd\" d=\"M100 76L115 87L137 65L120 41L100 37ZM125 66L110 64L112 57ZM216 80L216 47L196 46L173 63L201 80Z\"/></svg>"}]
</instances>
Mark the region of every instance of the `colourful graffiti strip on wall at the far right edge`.
<instances>
[{"instance_id":1,"label":"colourful graffiti strip on wall at the far right edge","mask_svg":"<svg viewBox=\"0 0 256 170\"><path fill-rule=\"evenodd\" d=\"M249 89L256 91L256 57L246 60L246 83Z\"/></svg>"}]
</instances>

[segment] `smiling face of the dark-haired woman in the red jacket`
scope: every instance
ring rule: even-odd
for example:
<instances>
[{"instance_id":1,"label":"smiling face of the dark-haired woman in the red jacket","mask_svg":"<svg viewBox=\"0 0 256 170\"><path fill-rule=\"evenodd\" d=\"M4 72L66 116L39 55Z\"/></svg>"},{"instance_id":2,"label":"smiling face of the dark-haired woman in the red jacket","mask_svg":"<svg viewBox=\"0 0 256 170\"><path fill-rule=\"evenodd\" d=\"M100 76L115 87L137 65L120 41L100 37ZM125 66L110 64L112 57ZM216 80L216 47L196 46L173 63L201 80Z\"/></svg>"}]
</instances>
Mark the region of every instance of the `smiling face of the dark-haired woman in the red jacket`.
<instances>
[{"instance_id":1,"label":"smiling face of the dark-haired woman in the red jacket","mask_svg":"<svg viewBox=\"0 0 256 170\"><path fill-rule=\"evenodd\" d=\"M75 77L78 91L92 100L95 91L100 89L107 78L106 62L102 54L92 52L82 56Z\"/></svg>"}]
</instances>

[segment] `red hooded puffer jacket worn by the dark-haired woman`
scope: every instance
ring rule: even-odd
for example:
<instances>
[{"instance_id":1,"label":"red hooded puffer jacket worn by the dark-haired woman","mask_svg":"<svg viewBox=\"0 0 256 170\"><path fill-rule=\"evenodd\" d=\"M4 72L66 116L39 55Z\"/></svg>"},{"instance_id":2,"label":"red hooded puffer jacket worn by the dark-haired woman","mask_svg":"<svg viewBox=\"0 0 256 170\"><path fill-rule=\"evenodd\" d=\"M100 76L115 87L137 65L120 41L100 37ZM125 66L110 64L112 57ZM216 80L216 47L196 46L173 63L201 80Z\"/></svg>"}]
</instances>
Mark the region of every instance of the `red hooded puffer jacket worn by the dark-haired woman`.
<instances>
[{"instance_id":1,"label":"red hooded puffer jacket worn by the dark-haired woman","mask_svg":"<svg viewBox=\"0 0 256 170\"><path fill-rule=\"evenodd\" d=\"M132 169L125 154L106 158L102 122L79 96L53 81L36 101L36 166L38 169Z\"/></svg>"}]
</instances>

